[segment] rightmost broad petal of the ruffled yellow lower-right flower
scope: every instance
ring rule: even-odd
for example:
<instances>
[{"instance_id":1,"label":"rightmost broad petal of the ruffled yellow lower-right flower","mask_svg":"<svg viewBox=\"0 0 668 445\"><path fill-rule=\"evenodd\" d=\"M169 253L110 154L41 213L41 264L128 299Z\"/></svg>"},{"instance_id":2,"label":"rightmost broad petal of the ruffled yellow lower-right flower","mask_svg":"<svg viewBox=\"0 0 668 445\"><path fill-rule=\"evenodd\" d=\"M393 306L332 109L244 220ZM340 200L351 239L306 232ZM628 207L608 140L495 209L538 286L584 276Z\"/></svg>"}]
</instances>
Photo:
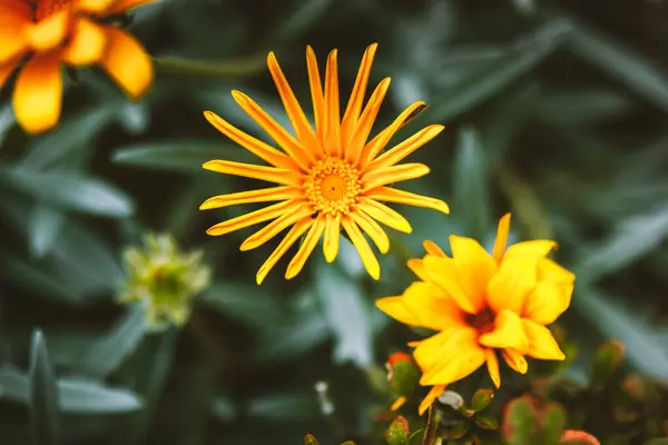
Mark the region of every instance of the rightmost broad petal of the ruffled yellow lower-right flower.
<instances>
[{"instance_id":1,"label":"rightmost broad petal of the ruffled yellow lower-right flower","mask_svg":"<svg viewBox=\"0 0 668 445\"><path fill-rule=\"evenodd\" d=\"M573 284L539 281L527 297L523 317L550 325L570 306Z\"/></svg>"}]
</instances>

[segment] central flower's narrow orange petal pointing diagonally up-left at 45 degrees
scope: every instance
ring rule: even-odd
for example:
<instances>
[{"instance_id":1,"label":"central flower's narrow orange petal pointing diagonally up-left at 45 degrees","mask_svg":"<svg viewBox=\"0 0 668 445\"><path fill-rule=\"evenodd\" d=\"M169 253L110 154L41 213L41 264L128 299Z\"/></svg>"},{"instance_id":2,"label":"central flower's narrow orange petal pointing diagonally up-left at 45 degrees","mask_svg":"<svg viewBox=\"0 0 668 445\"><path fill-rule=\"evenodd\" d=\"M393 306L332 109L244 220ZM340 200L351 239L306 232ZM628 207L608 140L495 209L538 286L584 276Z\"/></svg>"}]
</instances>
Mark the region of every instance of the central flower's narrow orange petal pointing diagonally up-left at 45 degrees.
<instances>
[{"instance_id":1,"label":"central flower's narrow orange petal pointing diagonally up-left at 45 degrees","mask_svg":"<svg viewBox=\"0 0 668 445\"><path fill-rule=\"evenodd\" d=\"M308 169L310 155L285 128L281 127L259 105L243 92L234 90L232 97L302 169Z\"/></svg>"}]
</instances>

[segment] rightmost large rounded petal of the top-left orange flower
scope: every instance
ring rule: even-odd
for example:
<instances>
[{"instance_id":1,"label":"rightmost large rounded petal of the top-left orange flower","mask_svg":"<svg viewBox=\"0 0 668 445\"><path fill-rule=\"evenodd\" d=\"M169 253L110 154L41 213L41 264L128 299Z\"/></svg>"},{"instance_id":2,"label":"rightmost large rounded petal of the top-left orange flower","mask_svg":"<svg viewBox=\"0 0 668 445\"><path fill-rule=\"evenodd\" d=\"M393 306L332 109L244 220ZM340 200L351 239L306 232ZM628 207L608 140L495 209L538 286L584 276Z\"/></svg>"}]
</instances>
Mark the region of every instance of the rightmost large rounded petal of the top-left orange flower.
<instances>
[{"instance_id":1,"label":"rightmost large rounded petal of the top-left orange flower","mask_svg":"<svg viewBox=\"0 0 668 445\"><path fill-rule=\"evenodd\" d=\"M154 68L146 50L132 36L116 27L105 27L107 48L101 66L132 99L153 83Z\"/></svg>"}]
</instances>

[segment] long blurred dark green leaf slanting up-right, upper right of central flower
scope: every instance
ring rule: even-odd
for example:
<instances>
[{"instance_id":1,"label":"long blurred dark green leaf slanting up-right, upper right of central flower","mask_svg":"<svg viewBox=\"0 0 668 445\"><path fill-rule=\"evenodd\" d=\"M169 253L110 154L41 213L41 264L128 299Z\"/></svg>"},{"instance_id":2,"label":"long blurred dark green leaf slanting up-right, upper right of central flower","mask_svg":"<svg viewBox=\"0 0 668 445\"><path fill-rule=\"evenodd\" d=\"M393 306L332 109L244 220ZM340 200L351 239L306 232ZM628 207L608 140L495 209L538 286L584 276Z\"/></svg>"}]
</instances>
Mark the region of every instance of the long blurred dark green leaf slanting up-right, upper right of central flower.
<instances>
[{"instance_id":1,"label":"long blurred dark green leaf slanting up-right, upper right of central flower","mask_svg":"<svg viewBox=\"0 0 668 445\"><path fill-rule=\"evenodd\" d=\"M523 37L491 60L480 63L473 73L466 72L450 88L441 89L441 99L425 115L430 113L432 120L448 121L475 108L550 56L569 29L568 22L556 20Z\"/></svg>"}]
</instances>

